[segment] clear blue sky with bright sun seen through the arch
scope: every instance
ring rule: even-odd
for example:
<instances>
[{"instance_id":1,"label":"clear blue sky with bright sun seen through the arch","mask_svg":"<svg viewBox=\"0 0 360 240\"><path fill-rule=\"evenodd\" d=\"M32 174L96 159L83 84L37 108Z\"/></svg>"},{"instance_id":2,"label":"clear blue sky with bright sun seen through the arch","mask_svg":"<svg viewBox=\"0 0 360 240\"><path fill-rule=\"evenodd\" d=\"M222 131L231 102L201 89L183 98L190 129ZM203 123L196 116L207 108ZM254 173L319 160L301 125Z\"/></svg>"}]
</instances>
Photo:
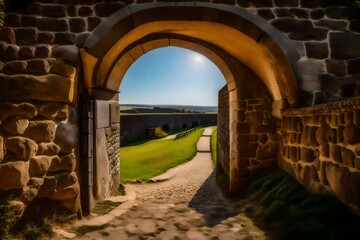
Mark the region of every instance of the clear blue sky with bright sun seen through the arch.
<instances>
[{"instance_id":1,"label":"clear blue sky with bright sun seen through the arch","mask_svg":"<svg viewBox=\"0 0 360 240\"><path fill-rule=\"evenodd\" d=\"M120 103L217 106L225 84L220 70L203 55L158 48L129 68L120 85Z\"/></svg>"}]
</instances>

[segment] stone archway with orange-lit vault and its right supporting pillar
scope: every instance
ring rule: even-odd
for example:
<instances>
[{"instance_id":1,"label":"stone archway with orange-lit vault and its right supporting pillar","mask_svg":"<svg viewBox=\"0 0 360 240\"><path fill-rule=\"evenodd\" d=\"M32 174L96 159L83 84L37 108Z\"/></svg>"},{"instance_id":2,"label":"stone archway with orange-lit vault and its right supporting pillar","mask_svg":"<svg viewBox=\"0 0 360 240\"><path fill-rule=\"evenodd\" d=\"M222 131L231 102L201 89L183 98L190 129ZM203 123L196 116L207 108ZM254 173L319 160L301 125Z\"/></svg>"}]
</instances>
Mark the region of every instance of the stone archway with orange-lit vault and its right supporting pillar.
<instances>
[{"instance_id":1,"label":"stone archway with orange-lit vault and its right supporting pillar","mask_svg":"<svg viewBox=\"0 0 360 240\"><path fill-rule=\"evenodd\" d=\"M229 6L157 3L120 10L100 24L81 49L85 88L95 99L117 101L117 89L131 64L165 46L203 54L227 81L222 119L227 154L218 165L228 178L228 191L277 166L276 118L282 108L296 103L292 65L299 60L283 35ZM267 141L260 140L262 135Z\"/></svg>"}]
</instances>

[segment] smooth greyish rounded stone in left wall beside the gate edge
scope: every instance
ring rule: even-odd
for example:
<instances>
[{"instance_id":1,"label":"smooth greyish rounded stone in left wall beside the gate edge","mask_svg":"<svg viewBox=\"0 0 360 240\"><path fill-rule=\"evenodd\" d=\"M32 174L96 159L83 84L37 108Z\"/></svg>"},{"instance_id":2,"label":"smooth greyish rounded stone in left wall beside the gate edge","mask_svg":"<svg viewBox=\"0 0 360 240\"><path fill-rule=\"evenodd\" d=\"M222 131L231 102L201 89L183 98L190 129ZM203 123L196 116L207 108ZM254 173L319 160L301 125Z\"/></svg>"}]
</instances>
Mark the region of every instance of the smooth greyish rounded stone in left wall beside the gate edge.
<instances>
[{"instance_id":1,"label":"smooth greyish rounded stone in left wall beside the gate edge","mask_svg":"<svg viewBox=\"0 0 360 240\"><path fill-rule=\"evenodd\" d=\"M78 129L76 125L59 123L54 143L60 147L61 153L71 153L78 144Z\"/></svg>"}]
</instances>

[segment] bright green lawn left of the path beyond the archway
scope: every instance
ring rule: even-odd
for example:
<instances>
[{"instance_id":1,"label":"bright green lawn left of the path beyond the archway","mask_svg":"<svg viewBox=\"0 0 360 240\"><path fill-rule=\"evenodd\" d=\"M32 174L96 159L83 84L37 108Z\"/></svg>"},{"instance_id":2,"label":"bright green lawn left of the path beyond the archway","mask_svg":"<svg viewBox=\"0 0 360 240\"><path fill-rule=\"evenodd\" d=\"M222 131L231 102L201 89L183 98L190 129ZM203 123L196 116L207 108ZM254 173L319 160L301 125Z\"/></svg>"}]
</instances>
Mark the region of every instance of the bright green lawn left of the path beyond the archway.
<instances>
[{"instance_id":1,"label":"bright green lawn left of the path beyond the archway","mask_svg":"<svg viewBox=\"0 0 360 240\"><path fill-rule=\"evenodd\" d=\"M176 141L156 139L120 148L120 181L147 180L192 159L203 131L201 128Z\"/></svg>"}]
</instances>

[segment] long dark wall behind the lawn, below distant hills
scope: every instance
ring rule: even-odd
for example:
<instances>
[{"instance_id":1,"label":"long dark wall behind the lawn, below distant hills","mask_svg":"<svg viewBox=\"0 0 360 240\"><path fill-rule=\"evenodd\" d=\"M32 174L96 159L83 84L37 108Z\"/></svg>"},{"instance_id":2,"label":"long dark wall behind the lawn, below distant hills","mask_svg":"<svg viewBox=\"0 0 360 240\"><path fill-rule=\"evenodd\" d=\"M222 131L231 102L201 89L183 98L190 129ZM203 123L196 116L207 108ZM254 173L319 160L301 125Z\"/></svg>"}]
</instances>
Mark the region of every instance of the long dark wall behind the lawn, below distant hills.
<instances>
[{"instance_id":1,"label":"long dark wall behind the lawn, below distant hills","mask_svg":"<svg viewBox=\"0 0 360 240\"><path fill-rule=\"evenodd\" d=\"M121 114L121 146L147 138L147 129L152 127L169 130L189 128L200 125L216 125L216 114Z\"/></svg>"}]
</instances>

